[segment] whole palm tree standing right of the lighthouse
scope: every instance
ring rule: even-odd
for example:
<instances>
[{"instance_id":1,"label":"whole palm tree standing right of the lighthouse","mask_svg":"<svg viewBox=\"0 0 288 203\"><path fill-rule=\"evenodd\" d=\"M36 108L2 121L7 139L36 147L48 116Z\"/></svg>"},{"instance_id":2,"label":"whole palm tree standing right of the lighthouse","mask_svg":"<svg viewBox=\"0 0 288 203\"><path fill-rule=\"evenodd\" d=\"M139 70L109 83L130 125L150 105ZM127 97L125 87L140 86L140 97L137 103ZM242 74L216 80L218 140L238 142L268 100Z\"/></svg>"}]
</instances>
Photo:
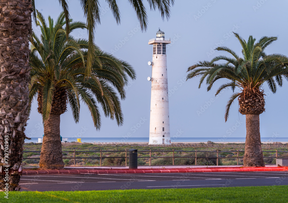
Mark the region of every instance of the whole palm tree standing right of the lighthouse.
<instances>
[{"instance_id":1,"label":"whole palm tree standing right of the lighthouse","mask_svg":"<svg viewBox=\"0 0 288 203\"><path fill-rule=\"evenodd\" d=\"M256 41L252 36L246 42L237 33L234 33L242 46L242 58L228 47L217 47L215 50L226 51L233 57L217 56L211 61L200 61L188 68L187 79L201 76L199 88L206 78L207 91L215 81L226 78L230 80L219 87L216 94L223 89L231 87L239 92L233 93L226 106L225 122L234 99L238 97L239 112L246 115L246 143L244 166L264 166L261 149L259 114L265 111L264 90L262 85L266 82L269 89L275 93L277 84L281 87L283 77L288 79L286 66L288 58L281 54L267 55L264 51L277 37L262 37ZM221 63L215 63L218 61ZM277 83L277 84L276 84Z\"/></svg>"}]
</instances>

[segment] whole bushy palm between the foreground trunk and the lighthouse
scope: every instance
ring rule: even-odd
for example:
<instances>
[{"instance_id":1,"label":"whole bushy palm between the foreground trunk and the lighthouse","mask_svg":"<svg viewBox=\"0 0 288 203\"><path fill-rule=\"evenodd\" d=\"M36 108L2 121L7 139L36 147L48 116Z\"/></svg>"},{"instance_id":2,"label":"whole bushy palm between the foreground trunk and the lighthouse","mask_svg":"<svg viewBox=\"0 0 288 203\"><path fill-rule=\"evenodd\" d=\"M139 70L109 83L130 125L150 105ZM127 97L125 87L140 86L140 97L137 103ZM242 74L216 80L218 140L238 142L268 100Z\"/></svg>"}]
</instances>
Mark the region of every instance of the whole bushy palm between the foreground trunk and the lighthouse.
<instances>
[{"instance_id":1,"label":"whole bushy palm between the foreground trunk and the lighthouse","mask_svg":"<svg viewBox=\"0 0 288 203\"><path fill-rule=\"evenodd\" d=\"M85 28L85 23L69 22L69 32L64 12L56 23L48 17L49 27L37 11L37 25L41 28L38 38L33 32L31 40L30 104L37 97L38 112L44 122L44 137L39 166L42 169L64 167L60 141L60 115L70 105L75 122L79 121L80 101L88 107L94 126L100 129L101 119L98 104L105 116L116 119L122 125L123 116L120 99L125 98L124 87L128 76L135 79L133 68L124 61L101 51L94 46L95 59L90 77L85 77L85 62L89 43L85 39L74 39L70 34L77 28ZM41 39L41 40L40 40ZM117 90L114 91L114 89Z\"/></svg>"}]
</instances>

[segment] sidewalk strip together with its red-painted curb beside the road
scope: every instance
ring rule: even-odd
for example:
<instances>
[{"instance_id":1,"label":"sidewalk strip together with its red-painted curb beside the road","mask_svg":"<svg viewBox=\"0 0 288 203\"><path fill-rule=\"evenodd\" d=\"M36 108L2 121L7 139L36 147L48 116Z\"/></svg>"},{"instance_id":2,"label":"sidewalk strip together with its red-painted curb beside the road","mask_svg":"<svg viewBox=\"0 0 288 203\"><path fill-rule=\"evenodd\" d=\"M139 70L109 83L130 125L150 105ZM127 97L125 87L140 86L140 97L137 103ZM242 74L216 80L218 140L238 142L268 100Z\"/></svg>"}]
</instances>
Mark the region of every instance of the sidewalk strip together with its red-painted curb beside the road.
<instances>
[{"instance_id":1,"label":"sidewalk strip together with its red-painted curb beside the road","mask_svg":"<svg viewBox=\"0 0 288 203\"><path fill-rule=\"evenodd\" d=\"M241 166L138 166L138 169L129 169L128 166L105 166L105 167L65 167L63 170L27 170L22 175L33 174L67 174L67 173L90 173L90 174L115 174L115 173L199 173L199 172L245 172L245 171L288 171L288 167L269 165L266 167Z\"/></svg>"}]
</instances>

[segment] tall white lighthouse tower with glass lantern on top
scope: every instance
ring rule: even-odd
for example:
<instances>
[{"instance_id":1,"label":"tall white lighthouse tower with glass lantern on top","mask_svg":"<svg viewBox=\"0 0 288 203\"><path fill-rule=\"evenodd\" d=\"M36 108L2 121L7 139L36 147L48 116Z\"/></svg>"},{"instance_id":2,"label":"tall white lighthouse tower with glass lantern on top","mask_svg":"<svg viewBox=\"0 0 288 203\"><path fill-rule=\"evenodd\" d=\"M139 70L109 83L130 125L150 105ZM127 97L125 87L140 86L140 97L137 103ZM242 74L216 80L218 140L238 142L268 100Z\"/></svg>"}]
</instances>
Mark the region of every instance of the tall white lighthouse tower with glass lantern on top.
<instances>
[{"instance_id":1,"label":"tall white lighthouse tower with glass lantern on top","mask_svg":"<svg viewBox=\"0 0 288 203\"><path fill-rule=\"evenodd\" d=\"M148 44L153 45L152 75L151 81L151 108L150 108L150 131L149 144L170 144L170 122L168 101L168 77L166 44L171 41L165 40L164 32L159 28L156 39L150 39Z\"/></svg>"}]
</instances>

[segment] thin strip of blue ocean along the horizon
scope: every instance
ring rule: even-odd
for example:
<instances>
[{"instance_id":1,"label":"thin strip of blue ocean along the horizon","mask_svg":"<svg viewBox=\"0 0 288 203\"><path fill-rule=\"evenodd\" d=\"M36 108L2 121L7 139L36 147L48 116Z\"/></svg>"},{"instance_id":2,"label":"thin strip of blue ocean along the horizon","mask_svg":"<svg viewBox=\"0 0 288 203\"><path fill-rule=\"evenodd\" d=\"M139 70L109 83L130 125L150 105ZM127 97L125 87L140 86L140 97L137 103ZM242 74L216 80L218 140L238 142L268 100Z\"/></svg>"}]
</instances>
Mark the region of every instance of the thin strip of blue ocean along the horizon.
<instances>
[{"instance_id":1,"label":"thin strip of blue ocean along the horizon","mask_svg":"<svg viewBox=\"0 0 288 203\"><path fill-rule=\"evenodd\" d=\"M149 137L63 137L68 138L68 142L77 141L81 138L82 142L149 142ZM171 137L171 142L245 142L245 137ZM261 137L263 142L288 142L288 137ZM38 137L25 139L25 143L38 142Z\"/></svg>"}]
</instances>

